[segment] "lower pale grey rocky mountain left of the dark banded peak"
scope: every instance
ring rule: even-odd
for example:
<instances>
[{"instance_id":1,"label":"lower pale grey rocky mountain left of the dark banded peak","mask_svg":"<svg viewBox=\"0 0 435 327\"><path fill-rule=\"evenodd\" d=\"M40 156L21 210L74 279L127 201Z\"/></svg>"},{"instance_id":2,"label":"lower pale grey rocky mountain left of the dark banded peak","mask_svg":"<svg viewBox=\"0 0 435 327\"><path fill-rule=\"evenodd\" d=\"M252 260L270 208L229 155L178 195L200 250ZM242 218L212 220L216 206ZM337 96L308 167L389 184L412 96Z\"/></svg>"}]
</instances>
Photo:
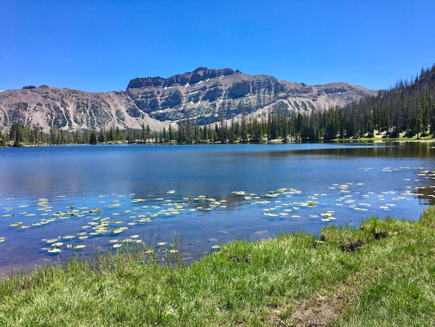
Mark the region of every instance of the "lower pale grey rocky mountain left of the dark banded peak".
<instances>
[{"instance_id":1,"label":"lower pale grey rocky mountain left of the dark banded peak","mask_svg":"<svg viewBox=\"0 0 435 327\"><path fill-rule=\"evenodd\" d=\"M159 130L164 122L138 109L125 92L90 93L69 88L26 86L22 90L0 92L0 129L13 124L61 129L100 129L141 124ZM166 123L167 125L167 123Z\"/></svg>"}]
</instances>

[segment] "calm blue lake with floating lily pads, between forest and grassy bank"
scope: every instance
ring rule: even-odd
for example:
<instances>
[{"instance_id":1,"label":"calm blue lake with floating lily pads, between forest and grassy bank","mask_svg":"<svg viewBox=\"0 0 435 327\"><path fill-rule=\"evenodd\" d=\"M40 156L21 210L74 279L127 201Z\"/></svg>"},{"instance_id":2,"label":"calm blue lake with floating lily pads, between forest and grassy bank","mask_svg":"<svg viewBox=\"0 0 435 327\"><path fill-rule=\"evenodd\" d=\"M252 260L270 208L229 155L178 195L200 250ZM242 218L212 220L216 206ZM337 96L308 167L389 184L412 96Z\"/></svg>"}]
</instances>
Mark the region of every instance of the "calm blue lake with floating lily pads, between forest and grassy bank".
<instances>
[{"instance_id":1,"label":"calm blue lake with floating lily pads, between forest and grassy bank","mask_svg":"<svg viewBox=\"0 0 435 327\"><path fill-rule=\"evenodd\" d=\"M434 143L0 148L0 274L175 239L192 260L233 239L319 233L434 204Z\"/></svg>"}]
</instances>

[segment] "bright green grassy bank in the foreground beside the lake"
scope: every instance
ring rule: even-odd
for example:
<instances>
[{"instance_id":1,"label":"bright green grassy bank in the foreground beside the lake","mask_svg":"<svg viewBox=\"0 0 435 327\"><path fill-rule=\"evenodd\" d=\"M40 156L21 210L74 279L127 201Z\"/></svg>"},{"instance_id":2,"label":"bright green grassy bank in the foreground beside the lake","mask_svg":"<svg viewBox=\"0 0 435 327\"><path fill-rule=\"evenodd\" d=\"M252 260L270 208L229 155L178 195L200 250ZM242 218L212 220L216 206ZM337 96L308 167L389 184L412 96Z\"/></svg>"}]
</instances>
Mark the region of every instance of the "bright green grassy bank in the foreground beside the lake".
<instances>
[{"instance_id":1,"label":"bright green grassy bank in the foreground beside the lake","mask_svg":"<svg viewBox=\"0 0 435 327\"><path fill-rule=\"evenodd\" d=\"M0 326L434 326L434 258L434 208L234 241L190 266L96 255L1 281Z\"/></svg>"}]
</instances>

